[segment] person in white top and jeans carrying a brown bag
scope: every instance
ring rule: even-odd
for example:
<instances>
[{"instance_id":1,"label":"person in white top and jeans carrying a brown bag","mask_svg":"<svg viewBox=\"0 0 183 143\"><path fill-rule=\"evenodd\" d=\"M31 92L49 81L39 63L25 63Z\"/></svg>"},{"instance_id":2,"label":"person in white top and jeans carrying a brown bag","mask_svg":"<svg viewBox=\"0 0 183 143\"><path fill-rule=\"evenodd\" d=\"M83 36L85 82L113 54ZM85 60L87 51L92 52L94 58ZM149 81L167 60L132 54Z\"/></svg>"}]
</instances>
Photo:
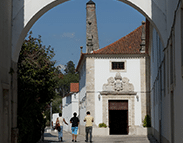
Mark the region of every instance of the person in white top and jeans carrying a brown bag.
<instances>
[{"instance_id":1,"label":"person in white top and jeans carrying a brown bag","mask_svg":"<svg viewBox=\"0 0 183 143\"><path fill-rule=\"evenodd\" d=\"M58 140L63 141L63 122L68 125L65 119L62 117L62 113L59 113L59 117L56 121L56 129L58 130Z\"/></svg>"}]
</instances>

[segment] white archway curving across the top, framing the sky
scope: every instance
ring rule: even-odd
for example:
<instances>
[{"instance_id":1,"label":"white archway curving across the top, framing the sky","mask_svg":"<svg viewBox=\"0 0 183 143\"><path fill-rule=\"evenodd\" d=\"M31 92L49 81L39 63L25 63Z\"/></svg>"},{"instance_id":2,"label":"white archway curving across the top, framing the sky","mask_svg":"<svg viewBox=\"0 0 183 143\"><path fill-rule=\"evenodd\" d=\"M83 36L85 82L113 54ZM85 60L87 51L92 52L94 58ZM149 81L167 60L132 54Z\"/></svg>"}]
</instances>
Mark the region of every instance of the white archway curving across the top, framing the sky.
<instances>
[{"instance_id":1,"label":"white archway curving across the top, framing the sky","mask_svg":"<svg viewBox=\"0 0 183 143\"><path fill-rule=\"evenodd\" d=\"M62 4L69 0L15 0L13 3L13 26L12 26L12 60L16 63L18 61L19 52L23 40L30 30L32 25L47 11L53 7ZM157 5L153 5L151 0L119 0L126 3L127 5L133 7L144 15L151 24L159 32L160 37L162 37L163 43L165 43L166 34L165 34L165 22L160 22L157 19L153 18L153 9L158 9ZM159 12L159 11L158 11ZM162 19L164 18L164 12L161 11ZM162 28L164 27L164 28ZM161 36L165 35L165 36Z\"/></svg>"}]
</instances>

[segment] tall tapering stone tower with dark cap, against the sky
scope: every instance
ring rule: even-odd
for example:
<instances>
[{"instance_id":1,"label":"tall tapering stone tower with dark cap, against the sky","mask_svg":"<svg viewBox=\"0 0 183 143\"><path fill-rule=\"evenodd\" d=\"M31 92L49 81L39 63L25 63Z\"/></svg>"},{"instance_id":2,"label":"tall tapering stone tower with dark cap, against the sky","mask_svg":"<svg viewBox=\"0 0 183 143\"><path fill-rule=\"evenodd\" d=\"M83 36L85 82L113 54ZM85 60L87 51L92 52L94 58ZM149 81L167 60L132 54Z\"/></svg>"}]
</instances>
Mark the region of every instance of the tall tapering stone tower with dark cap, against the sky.
<instances>
[{"instance_id":1,"label":"tall tapering stone tower with dark cap, against the sky","mask_svg":"<svg viewBox=\"0 0 183 143\"><path fill-rule=\"evenodd\" d=\"M95 6L92 0L86 3L86 53L99 49Z\"/></svg>"}]
</instances>

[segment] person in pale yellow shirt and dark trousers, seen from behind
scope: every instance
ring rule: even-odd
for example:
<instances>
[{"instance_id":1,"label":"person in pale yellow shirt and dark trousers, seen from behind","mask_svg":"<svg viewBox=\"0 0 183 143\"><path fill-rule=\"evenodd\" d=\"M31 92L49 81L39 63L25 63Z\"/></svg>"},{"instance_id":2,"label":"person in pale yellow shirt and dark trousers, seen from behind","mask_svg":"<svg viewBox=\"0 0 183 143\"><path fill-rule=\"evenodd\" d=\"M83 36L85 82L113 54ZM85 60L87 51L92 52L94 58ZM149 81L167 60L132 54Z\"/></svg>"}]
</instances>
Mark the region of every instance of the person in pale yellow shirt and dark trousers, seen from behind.
<instances>
[{"instance_id":1,"label":"person in pale yellow shirt and dark trousers, seen from behind","mask_svg":"<svg viewBox=\"0 0 183 143\"><path fill-rule=\"evenodd\" d=\"M86 114L87 115L84 118L84 122L86 122L86 125L85 125L86 140L85 140L85 142L88 142L88 133L90 134L90 142L92 142L92 126L93 126L94 118L90 115L90 111L87 111Z\"/></svg>"}]
</instances>

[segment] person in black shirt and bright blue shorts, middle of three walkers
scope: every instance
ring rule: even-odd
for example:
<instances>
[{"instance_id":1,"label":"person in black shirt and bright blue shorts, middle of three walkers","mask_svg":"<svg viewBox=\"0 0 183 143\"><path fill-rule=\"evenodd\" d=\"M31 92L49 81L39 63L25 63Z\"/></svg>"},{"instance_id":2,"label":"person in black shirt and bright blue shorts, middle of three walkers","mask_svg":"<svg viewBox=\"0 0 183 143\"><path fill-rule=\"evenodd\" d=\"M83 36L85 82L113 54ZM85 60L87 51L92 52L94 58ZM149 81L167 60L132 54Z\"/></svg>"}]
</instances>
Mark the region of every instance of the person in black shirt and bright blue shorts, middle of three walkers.
<instances>
[{"instance_id":1,"label":"person in black shirt and bright blue shorts, middle of three walkers","mask_svg":"<svg viewBox=\"0 0 183 143\"><path fill-rule=\"evenodd\" d=\"M77 131L78 131L78 124L79 124L79 118L76 117L77 116L77 113L74 112L73 113L73 116L71 119L70 119L70 123L72 123L72 127L71 127L71 130L72 130L72 142L77 142Z\"/></svg>"}]
</instances>

